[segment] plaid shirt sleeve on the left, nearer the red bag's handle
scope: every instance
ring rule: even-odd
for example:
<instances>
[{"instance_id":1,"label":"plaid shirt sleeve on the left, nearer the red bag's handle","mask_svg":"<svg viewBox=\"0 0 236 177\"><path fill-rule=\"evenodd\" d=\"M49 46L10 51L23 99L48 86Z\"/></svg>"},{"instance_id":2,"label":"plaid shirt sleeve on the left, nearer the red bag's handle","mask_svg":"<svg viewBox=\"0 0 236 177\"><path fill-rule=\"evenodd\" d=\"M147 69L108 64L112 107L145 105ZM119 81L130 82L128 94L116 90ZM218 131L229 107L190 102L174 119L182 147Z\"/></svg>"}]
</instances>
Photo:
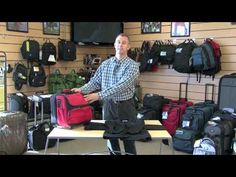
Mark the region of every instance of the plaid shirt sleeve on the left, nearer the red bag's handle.
<instances>
[{"instance_id":1,"label":"plaid shirt sleeve on the left, nearer the red bag's handle","mask_svg":"<svg viewBox=\"0 0 236 177\"><path fill-rule=\"evenodd\" d=\"M83 94L89 94L95 90L101 89L101 67L102 65L98 67L90 81L80 88Z\"/></svg>"}]
</instances>

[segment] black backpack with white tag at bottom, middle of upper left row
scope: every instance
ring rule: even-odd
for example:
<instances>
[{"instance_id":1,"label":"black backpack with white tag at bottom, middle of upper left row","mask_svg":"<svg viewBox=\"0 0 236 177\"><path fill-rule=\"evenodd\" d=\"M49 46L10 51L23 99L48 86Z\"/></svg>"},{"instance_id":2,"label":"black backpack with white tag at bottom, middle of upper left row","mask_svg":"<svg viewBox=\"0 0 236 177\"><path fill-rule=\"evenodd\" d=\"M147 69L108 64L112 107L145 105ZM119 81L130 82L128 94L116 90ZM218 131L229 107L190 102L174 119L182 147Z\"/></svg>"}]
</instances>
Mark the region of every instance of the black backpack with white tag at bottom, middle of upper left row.
<instances>
[{"instance_id":1,"label":"black backpack with white tag at bottom, middle of upper left row","mask_svg":"<svg viewBox=\"0 0 236 177\"><path fill-rule=\"evenodd\" d=\"M42 45L42 60L40 63L44 65L54 65L56 64L56 46L50 41L46 41Z\"/></svg>"}]
</instances>

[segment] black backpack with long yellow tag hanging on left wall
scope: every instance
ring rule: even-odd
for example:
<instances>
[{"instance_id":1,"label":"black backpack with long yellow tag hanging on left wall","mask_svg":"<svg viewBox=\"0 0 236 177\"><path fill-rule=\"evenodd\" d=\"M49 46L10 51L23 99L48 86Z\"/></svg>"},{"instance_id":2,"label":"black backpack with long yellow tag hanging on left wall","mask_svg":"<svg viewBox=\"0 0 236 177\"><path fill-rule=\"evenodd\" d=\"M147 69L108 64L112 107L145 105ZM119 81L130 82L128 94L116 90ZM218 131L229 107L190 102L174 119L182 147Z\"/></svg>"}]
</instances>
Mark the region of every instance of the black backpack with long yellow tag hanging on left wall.
<instances>
[{"instance_id":1,"label":"black backpack with long yellow tag hanging on left wall","mask_svg":"<svg viewBox=\"0 0 236 177\"><path fill-rule=\"evenodd\" d=\"M21 46L22 57L28 61L39 61L39 43L36 40L25 40Z\"/></svg>"}]
</instances>

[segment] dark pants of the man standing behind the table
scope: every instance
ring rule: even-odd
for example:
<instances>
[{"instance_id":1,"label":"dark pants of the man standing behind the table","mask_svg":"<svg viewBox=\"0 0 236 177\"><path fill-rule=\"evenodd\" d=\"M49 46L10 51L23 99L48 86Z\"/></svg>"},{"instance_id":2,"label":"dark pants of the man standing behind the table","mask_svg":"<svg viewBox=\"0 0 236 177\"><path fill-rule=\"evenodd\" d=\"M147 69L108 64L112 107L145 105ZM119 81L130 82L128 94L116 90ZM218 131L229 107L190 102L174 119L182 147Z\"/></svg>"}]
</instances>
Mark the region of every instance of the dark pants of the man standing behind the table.
<instances>
[{"instance_id":1,"label":"dark pants of the man standing behind the table","mask_svg":"<svg viewBox=\"0 0 236 177\"><path fill-rule=\"evenodd\" d=\"M103 119L104 120L132 120L137 117L134 100L129 99L126 101L115 102L113 100L104 100L103 102ZM120 153L120 145L118 139L108 140L108 147L111 154ZM123 140L124 149L126 153L137 154L135 148L135 141Z\"/></svg>"}]
</instances>

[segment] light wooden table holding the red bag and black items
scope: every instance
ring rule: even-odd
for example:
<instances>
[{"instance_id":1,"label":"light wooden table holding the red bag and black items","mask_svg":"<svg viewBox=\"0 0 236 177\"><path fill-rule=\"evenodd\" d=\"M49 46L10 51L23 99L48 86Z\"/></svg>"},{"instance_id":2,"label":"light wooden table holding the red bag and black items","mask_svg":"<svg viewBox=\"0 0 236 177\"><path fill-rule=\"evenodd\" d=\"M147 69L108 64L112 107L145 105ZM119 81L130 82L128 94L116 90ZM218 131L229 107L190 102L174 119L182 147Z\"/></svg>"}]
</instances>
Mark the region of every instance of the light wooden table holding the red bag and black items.
<instances>
[{"instance_id":1,"label":"light wooden table holding the red bag and black items","mask_svg":"<svg viewBox=\"0 0 236 177\"><path fill-rule=\"evenodd\" d=\"M92 122L103 123L104 120L92 120ZM145 125L161 125L159 120L145 120ZM172 147L172 137L166 130L148 130L152 139L163 140L168 139L169 146ZM83 138L101 138L103 139L104 130L84 130L83 125L78 125L73 129L61 129L54 128L50 134L47 136L47 141L45 145L44 154L46 154L48 149L48 141L50 139L57 139L57 153L59 151L60 139L83 139ZM160 154L162 149L162 142L160 142ZM172 151L174 153L174 151Z\"/></svg>"}]
</instances>

